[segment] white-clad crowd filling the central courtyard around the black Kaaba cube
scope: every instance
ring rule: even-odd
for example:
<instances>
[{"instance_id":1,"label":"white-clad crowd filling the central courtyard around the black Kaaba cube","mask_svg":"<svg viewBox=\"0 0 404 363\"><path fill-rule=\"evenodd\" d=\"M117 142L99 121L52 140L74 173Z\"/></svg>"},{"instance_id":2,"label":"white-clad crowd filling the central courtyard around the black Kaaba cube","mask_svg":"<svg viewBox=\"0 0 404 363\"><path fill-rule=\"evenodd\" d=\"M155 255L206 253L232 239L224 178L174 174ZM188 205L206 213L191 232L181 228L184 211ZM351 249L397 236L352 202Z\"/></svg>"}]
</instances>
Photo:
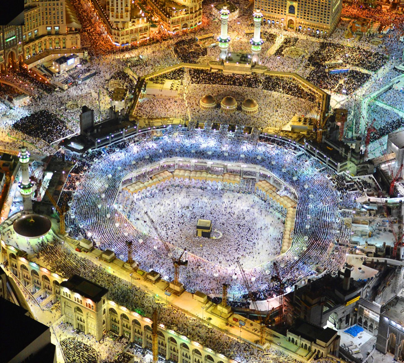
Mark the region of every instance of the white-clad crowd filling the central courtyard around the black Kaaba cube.
<instances>
[{"instance_id":1,"label":"white-clad crowd filling the central courtyard around the black Kaaba cube","mask_svg":"<svg viewBox=\"0 0 404 363\"><path fill-rule=\"evenodd\" d=\"M156 233L143 216L149 211L162 226L166 241L219 266L234 266L235 254L244 268L278 255L286 209L272 199L265 201L251 194L254 184L238 186L238 190L232 190L232 184L230 190L224 187L167 181L145 193L123 190L116 203L138 230L151 236ZM212 221L216 238L195 236L198 219Z\"/></svg>"}]
</instances>

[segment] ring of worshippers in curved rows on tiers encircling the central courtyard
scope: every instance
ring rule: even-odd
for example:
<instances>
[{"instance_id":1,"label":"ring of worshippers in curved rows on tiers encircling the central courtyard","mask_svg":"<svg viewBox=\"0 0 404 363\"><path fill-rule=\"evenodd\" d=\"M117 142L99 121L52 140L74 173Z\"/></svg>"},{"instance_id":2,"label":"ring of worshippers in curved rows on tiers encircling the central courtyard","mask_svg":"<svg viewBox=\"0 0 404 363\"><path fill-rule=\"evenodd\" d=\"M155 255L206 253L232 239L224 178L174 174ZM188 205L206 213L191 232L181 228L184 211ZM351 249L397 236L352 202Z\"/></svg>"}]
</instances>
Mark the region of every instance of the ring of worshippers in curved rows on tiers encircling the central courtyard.
<instances>
[{"instance_id":1,"label":"ring of worshippers in curved rows on tiers encircling the central courtyard","mask_svg":"<svg viewBox=\"0 0 404 363\"><path fill-rule=\"evenodd\" d=\"M192 139L185 136L179 139L166 136L158 141L140 141L140 143L126 146L122 150L107 148L103 152L85 154L84 161L80 164L84 175L74 192L71 206L71 211L75 214L75 219L70 224L72 236L78 239L86 236L86 238L93 240L97 247L114 249L116 255L123 255L123 258L126 258L127 253L125 241L130 238L136 242L141 238L143 240L141 248L137 249L137 255L134 256L141 268L145 270L157 269L164 275L172 276L173 267L162 255L164 251L162 244L154 238L144 236L143 232L128 224L127 219L122 217L120 213L116 213L114 198L117 187L125 173L133 170L133 163L135 163L136 168L142 168L154 160L170 157L173 153L178 154L176 150L180 150L179 147L182 147L181 150L192 158L219 158L219 160L236 161L239 158L239 153L243 152L243 163L248 163L250 158L256 159L255 152L260 152L261 155L264 152L269 152L269 159L265 163L269 163L269 160L273 160L273 162L268 166L268 169L279 169L281 165L285 165L285 168L282 168L282 170L286 169L285 172L279 170L280 174L283 174L282 178L292 185L297 185L297 188L305 195L301 196L301 208L298 208L292 248L288 253L278 258L278 262L284 265L282 273L285 279L290 279L290 284L292 284L292 281L299 279L302 273L311 273L308 266L317 263L327 266L331 273L338 270L340 260L343 257L337 252L343 247L336 246L335 253L332 254L331 258L328 258L329 256L324 253L324 248L328 249L330 241L335 238L334 234L338 230L341 230L341 239L349 240L348 230L345 231L345 226L340 225L340 222L337 222L334 217L337 213L335 207L338 203L347 206L354 206L355 203L349 195L342 195L341 192L334 189L332 184L328 182L327 176L324 174L325 171L318 172L322 169L318 161L304 157L300 164L305 166L305 171L299 173L295 170L294 147L287 144L281 143L281 148L274 148L273 144L261 143L253 147L252 145L240 145L238 140L229 141L228 139L220 139L220 137L212 137L208 133L202 133L195 141L194 144ZM223 150L226 150L230 156L223 156ZM207 151L210 154L206 154ZM77 169L75 171L80 173ZM297 178L297 175L300 178ZM316 182L314 183L311 178L314 178ZM305 180L309 179L310 181L306 185ZM95 183L94 180L97 182ZM310 188L314 185L311 196L307 195L309 193L305 188L305 185L309 188L308 184L310 184ZM322 194L324 195L320 196ZM319 204L320 198L326 201L325 204L324 202ZM122 206L116 205L116 208L120 209ZM328 216L326 220L321 217L324 213ZM330 215L333 216L331 219L329 219ZM94 218L97 218L97 223L88 224L87 221ZM319 239L313 240L314 235L312 236L310 231L314 225L316 225L316 231L321 230L322 232ZM122 235L122 226L126 228L127 236ZM315 234L317 236L318 233ZM325 245L327 247L324 247ZM295 256L299 256L297 260ZM215 295L221 286L217 285L217 279L213 276L214 273L222 276L222 279L229 280L233 278L232 276L239 275L236 268L225 268L205 263L193 255L189 255L188 260L190 263L186 269L182 269L181 275L183 283L190 291L200 289ZM271 264L266 264L263 267L248 270L248 275L255 276L257 279L253 285L262 287L261 274L271 273L272 269ZM232 286L234 289L232 293L240 295L243 290L240 280L233 281ZM265 295L264 298L274 295L273 287L269 285L263 289L262 295Z\"/></svg>"}]
</instances>

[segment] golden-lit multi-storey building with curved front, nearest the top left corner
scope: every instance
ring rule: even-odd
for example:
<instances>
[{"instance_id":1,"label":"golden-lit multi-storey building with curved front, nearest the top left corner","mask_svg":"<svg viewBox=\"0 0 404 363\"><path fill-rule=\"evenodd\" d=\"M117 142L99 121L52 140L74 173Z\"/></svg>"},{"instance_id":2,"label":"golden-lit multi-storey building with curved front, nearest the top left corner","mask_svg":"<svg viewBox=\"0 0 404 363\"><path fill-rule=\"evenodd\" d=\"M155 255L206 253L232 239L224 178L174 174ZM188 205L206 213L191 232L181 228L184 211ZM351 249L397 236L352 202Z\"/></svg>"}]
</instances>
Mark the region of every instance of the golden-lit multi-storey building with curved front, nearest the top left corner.
<instances>
[{"instance_id":1,"label":"golden-lit multi-storey building with curved front, nearest the top left corner","mask_svg":"<svg viewBox=\"0 0 404 363\"><path fill-rule=\"evenodd\" d=\"M81 25L68 0L25 0L25 59L46 49L80 48Z\"/></svg>"}]
</instances>

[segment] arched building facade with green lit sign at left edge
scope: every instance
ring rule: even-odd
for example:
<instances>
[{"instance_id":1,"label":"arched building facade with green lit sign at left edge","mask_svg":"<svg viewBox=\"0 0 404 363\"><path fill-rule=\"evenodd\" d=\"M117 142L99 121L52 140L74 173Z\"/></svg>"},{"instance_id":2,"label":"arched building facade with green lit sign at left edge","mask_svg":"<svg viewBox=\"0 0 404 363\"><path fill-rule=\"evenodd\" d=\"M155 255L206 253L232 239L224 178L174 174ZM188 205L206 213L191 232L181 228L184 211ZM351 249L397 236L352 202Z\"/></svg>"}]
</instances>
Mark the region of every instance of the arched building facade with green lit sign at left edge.
<instances>
[{"instance_id":1,"label":"arched building facade with green lit sign at left edge","mask_svg":"<svg viewBox=\"0 0 404 363\"><path fill-rule=\"evenodd\" d=\"M18 68L23 62L23 35L21 26L0 26L0 73L6 68Z\"/></svg>"}]
</instances>

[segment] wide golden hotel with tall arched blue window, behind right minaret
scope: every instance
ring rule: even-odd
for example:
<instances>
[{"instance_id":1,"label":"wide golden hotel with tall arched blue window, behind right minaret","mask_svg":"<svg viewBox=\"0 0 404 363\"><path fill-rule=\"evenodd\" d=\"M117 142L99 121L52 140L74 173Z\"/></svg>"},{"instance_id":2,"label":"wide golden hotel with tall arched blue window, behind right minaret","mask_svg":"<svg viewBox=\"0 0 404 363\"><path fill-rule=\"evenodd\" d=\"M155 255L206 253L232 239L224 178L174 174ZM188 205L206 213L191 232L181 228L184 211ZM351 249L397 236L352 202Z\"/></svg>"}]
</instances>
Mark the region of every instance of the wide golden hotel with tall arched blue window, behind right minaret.
<instances>
[{"instance_id":1,"label":"wide golden hotel with tall arched blue window, behind right minaret","mask_svg":"<svg viewBox=\"0 0 404 363\"><path fill-rule=\"evenodd\" d=\"M255 0L267 22L296 31L332 32L337 26L342 0Z\"/></svg>"}]
</instances>

